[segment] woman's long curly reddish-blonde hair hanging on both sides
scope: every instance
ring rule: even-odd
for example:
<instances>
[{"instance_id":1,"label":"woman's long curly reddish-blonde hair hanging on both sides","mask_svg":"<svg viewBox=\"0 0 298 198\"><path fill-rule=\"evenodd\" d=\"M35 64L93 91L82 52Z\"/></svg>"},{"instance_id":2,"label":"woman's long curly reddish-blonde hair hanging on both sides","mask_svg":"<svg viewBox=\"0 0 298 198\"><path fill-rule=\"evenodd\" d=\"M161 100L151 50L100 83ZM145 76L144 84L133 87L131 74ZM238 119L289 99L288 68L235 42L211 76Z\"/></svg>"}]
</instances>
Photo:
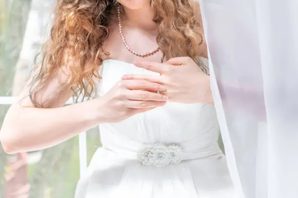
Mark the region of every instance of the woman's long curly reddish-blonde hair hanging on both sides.
<instances>
[{"instance_id":1,"label":"woman's long curly reddish-blonde hair hanging on both sides","mask_svg":"<svg viewBox=\"0 0 298 198\"><path fill-rule=\"evenodd\" d=\"M117 4L116 0L57 0L50 39L40 53L41 61L29 86L34 105L42 107L34 96L70 61L74 63L68 68L70 79L61 82L56 94L71 87L74 96L89 99L96 92L98 82L94 79L100 79L99 67L109 56L103 43L109 36L109 22ZM178 56L199 61L203 35L195 0L151 0L151 6L163 61Z\"/></svg>"}]
</instances>

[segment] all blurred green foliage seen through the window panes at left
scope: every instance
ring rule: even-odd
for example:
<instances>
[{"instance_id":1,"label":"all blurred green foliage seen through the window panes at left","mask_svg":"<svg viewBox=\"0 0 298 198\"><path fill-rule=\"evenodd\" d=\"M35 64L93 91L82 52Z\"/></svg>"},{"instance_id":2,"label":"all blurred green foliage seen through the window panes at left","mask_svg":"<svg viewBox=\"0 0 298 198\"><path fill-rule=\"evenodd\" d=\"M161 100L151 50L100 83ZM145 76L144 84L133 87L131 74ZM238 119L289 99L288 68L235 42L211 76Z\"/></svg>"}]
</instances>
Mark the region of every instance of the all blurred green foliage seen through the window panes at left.
<instances>
[{"instance_id":1,"label":"all blurred green foliage seen through the window panes at left","mask_svg":"<svg viewBox=\"0 0 298 198\"><path fill-rule=\"evenodd\" d=\"M22 48L31 0L0 0L0 96L10 96ZM42 1L41 1L42 3ZM0 105L0 127L8 110ZM88 161L100 146L98 129L87 133ZM5 193L8 155L0 147L0 197ZM28 165L30 198L73 198L79 179L78 137L45 149L38 163Z\"/></svg>"}]
</instances>

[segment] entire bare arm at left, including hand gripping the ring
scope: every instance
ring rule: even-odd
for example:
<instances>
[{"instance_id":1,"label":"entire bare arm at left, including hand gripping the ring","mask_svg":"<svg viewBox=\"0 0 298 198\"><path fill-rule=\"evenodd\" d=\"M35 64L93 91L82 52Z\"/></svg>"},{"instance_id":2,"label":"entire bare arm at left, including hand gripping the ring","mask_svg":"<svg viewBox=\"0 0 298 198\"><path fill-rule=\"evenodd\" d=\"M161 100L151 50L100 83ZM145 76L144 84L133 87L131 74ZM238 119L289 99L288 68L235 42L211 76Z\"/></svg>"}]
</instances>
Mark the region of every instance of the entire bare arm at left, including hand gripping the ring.
<instances>
[{"instance_id":1,"label":"entire bare arm at left, including hand gripping the ring","mask_svg":"<svg viewBox=\"0 0 298 198\"><path fill-rule=\"evenodd\" d=\"M50 99L69 75L56 76L36 96L45 108L34 107L24 90L5 116L0 141L7 153L33 151L55 146L99 123L118 122L137 113L165 104L167 98L157 94L165 88L147 81L119 81L103 97L63 107L72 96L69 88ZM144 91L148 90L148 91ZM152 92L153 91L153 92Z\"/></svg>"}]
</instances>

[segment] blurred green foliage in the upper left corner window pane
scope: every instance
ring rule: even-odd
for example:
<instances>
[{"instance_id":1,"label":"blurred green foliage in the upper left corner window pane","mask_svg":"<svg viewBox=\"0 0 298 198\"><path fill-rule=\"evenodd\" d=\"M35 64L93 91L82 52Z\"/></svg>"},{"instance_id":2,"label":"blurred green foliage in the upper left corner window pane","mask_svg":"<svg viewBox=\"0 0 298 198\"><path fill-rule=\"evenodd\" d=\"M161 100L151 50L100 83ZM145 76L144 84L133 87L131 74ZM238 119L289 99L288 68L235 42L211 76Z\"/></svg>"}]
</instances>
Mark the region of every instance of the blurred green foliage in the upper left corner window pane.
<instances>
[{"instance_id":1,"label":"blurred green foliage in the upper left corner window pane","mask_svg":"<svg viewBox=\"0 0 298 198\"><path fill-rule=\"evenodd\" d=\"M31 0L0 0L0 96L10 95Z\"/></svg>"}]
</instances>

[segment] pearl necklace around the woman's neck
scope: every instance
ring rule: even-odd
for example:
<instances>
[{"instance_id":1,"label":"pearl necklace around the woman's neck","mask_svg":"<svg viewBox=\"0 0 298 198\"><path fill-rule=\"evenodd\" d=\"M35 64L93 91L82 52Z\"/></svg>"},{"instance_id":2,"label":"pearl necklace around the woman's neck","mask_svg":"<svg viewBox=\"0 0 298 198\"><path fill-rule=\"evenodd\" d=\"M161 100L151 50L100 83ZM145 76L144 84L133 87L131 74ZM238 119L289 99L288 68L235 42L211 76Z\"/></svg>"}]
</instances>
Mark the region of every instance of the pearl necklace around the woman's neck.
<instances>
[{"instance_id":1,"label":"pearl necklace around the woman's neck","mask_svg":"<svg viewBox=\"0 0 298 198\"><path fill-rule=\"evenodd\" d=\"M123 44L124 46L126 47L126 49L128 49L130 51L130 53L136 55L136 56L140 56L140 57L143 57L145 58L146 56L151 56L153 54L155 54L157 51L159 51L159 45L157 45L157 47L153 50L150 50L150 51L147 51L145 53L140 53L140 52L137 52L133 49L130 48L130 46L127 44L126 42L126 38L122 32L122 22L121 22L121 13L120 13L120 6L117 7L117 16L118 16L118 24L119 24L119 33L122 37L122 41L123 41Z\"/></svg>"}]
</instances>

